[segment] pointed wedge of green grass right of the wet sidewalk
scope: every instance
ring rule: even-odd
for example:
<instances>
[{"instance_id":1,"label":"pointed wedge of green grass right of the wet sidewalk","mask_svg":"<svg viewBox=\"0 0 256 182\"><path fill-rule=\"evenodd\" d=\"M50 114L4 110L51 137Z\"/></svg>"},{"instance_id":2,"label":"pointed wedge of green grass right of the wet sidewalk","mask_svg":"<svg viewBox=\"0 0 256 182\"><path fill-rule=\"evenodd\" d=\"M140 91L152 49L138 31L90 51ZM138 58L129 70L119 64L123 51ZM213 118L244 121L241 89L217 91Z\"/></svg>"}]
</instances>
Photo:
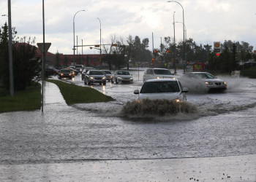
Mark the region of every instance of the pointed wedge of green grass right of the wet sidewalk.
<instances>
[{"instance_id":1,"label":"pointed wedge of green grass right of the wet sidewalk","mask_svg":"<svg viewBox=\"0 0 256 182\"><path fill-rule=\"evenodd\" d=\"M61 94L68 105L75 103L109 102L114 100L110 96L104 95L91 87L80 87L75 84L69 84L55 79L48 79L47 82L52 82L59 87L59 90L61 90Z\"/></svg>"}]
</instances>

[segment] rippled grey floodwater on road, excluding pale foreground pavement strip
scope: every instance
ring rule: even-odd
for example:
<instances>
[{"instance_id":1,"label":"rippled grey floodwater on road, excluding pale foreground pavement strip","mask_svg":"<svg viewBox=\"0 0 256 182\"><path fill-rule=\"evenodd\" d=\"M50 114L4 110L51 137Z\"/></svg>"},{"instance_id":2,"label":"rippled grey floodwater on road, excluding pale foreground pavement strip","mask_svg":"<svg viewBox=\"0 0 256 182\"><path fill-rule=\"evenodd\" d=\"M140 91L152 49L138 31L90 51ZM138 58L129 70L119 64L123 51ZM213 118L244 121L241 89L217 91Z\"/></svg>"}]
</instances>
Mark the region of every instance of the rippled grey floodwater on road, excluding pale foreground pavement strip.
<instances>
[{"instance_id":1,"label":"rippled grey floodwater on road, excluding pale foreground pavement strip","mask_svg":"<svg viewBox=\"0 0 256 182\"><path fill-rule=\"evenodd\" d=\"M196 114L133 117L120 114L142 85L143 71L138 80L138 71L131 72L133 84L90 86L116 99L110 103L67 106L58 87L47 82L44 114L0 114L0 165L256 154L254 79L222 78L227 92L188 93ZM84 86L79 77L71 82Z\"/></svg>"}]
</instances>

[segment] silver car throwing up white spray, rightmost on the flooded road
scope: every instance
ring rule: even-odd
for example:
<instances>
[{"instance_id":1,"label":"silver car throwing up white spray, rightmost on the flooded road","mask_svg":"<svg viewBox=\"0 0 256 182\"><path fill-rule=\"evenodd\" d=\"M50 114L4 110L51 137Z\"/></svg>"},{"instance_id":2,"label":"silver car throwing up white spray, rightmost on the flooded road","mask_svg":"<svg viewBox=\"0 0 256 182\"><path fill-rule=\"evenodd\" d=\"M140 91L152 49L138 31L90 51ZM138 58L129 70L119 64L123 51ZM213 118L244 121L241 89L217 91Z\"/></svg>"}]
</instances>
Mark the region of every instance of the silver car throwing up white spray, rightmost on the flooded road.
<instances>
[{"instance_id":1,"label":"silver car throwing up white spray, rightmost on the flooded road","mask_svg":"<svg viewBox=\"0 0 256 182\"><path fill-rule=\"evenodd\" d=\"M189 72L180 77L184 87L192 92L208 92L209 90L227 90L227 83L208 72Z\"/></svg>"}]
</instances>

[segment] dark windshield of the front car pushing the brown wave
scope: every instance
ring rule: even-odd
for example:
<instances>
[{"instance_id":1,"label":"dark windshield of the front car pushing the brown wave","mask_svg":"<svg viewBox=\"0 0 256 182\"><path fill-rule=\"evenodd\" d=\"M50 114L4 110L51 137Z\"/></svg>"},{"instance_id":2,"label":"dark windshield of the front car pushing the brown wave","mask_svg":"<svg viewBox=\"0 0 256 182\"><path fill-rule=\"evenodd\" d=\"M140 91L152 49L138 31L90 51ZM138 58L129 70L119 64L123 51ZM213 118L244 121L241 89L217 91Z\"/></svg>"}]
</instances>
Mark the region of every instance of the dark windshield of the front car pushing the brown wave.
<instances>
[{"instance_id":1,"label":"dark windshield of the front car pushing the brown wave","mask_svg":"<svg viewBox=\"0 0 256 182\"><path fill-rule=\"evenodd\" d=\"M178 82L145 82L140 93L179 92Z\"/></svg>"}]
</instances>

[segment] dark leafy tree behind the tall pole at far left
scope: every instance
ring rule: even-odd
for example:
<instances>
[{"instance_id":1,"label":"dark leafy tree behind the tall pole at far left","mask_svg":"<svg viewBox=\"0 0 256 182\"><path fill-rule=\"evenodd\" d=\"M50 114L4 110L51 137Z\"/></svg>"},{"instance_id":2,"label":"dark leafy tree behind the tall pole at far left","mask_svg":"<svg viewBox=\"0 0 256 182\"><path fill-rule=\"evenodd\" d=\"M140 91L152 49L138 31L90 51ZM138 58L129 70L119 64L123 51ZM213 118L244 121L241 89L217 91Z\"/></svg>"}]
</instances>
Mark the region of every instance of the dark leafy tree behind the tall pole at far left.
<instances>
[{"instance_id":1,"label":"dark leafy tree behind the tall pole at far left","mask_svg":"<svg viewBox=\"0 0 256 182\"><path fill-rule=\"evenodd\" d=\"M9 75L9 41L8 41L8 26L7 23L2 27L0 31L0 79L2 84L7 89L10 87L10 75ZM37 79L40 71L40 63L34 59L36 47L34 40L29 38L26 41L26 37L15 40L15 28L12 28L12 62L13 62L13 81L15 90L23 90L31 84L31 81Z\"/></svg>"}]
</instances>

